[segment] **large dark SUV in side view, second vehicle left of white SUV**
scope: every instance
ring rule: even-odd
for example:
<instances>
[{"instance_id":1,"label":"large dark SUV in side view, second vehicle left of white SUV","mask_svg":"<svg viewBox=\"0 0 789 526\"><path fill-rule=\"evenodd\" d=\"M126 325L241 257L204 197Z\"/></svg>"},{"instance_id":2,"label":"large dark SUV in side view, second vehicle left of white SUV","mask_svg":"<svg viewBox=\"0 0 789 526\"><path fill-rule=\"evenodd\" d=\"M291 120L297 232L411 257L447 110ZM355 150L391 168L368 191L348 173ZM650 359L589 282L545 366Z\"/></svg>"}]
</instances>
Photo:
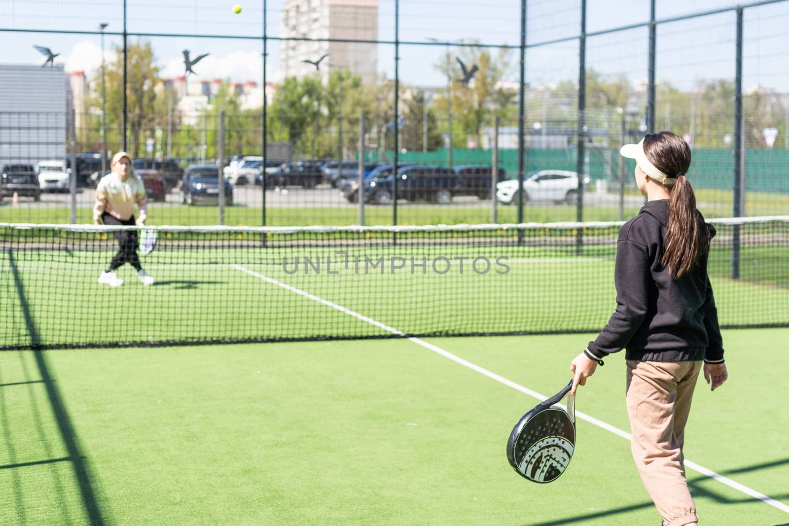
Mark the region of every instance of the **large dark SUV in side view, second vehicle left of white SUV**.
<instances>
[{"instance_id":1,"label":"large dark SUV in side view, second vehicle left of white SUV","mask_svg":"<svg viewBox=\"0 0 789 526\"><path fill-rule=\"evenodd\" d=\"M458 176L454 170L438 166L406 166L388 177L376 177L365 188L365 200L378 204L391 203L394 177L398 177L397 198L409 201L450 203ZM369 193L369 196L366 195Z\"/></svg>"}]
</instances>

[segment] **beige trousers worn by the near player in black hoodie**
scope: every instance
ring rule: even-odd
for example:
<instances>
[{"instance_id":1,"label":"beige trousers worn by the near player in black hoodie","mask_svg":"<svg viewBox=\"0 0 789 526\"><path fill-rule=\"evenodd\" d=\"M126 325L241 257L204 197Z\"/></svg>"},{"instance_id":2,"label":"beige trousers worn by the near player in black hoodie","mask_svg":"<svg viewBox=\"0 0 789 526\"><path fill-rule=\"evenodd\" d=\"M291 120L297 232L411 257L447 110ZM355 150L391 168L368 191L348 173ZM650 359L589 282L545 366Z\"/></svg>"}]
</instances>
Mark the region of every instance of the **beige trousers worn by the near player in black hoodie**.
<instances>
[{"instance_id":1,"label":"beige trousers worn by the near player in black hoodie","mask_svg":"<svg viewBox=\"0 0 789 526\"><path fill-rule=\"evenodd\" d=\"M627 360L630 447L641 480L666 526L697 521L685 480L685 424L701 361Z\"/></svg>"}]
</instances>

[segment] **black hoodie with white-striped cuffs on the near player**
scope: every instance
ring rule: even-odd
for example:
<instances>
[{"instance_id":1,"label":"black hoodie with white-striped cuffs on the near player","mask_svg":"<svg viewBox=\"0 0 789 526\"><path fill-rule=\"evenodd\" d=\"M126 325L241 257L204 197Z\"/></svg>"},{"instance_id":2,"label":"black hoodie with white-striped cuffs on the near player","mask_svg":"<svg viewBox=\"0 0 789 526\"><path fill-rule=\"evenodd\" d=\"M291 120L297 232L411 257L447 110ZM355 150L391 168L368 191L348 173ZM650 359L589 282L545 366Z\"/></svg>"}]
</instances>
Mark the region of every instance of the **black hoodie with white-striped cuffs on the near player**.
<instances>
[{"instance_id":1,"label":"black hoodie with white-striped cuffs on the near player","mask_svg":"<svg viewBox=\"0 0 789 526\"><path fill-rule=\"evenodd\" d=\"M707 254L682 278L660 263L668 200L649 201L619 230L616 244L616 311L585 353L601 360L626 349L627 360L723 363L724 349ZM705 225L699 214L699 221ZM710 229L710 237L715 229Z\"/></svg>"}]
</instances>

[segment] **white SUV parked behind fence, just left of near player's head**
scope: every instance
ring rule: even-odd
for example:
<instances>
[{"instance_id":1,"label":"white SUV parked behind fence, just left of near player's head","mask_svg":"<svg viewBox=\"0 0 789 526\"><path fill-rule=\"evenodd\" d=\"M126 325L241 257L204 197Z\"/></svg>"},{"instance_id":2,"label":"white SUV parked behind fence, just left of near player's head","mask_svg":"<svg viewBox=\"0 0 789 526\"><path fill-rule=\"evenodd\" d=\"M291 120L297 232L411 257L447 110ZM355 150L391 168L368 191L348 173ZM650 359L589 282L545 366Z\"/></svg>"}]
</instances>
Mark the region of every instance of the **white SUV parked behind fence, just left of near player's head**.
<instances>
[{"instance_id":1,"label":"white SUV parked behind fence, just left of near player's head","mask_svg":"<svg viewBox=\"0 0 789 526\"><path fill-rule=\"evenodd\" d=\"M589 177L584 178L584 184ZM510 179L495 185L499 203L518 203L518 180ZM524 201L554 201L578 203L578 173L566 170L540 170L527 173L523 181Z\"/></svg>"}]
</instances>

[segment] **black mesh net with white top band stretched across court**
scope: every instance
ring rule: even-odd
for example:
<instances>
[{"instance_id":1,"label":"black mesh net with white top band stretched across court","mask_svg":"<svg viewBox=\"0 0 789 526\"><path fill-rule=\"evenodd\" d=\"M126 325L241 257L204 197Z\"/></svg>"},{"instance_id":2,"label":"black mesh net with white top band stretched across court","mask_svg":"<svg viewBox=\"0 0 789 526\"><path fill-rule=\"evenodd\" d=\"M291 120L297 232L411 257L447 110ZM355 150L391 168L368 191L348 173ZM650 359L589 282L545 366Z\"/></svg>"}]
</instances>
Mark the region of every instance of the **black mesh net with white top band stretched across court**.
<instances>
[{"instance_id":1,"label":"black mesh net with white top band stretched across court","mask_svg":"<svg viewBox=\"0 0 789 526\"><path fill-rule=\"evenodd\" d=\"M711 222L721 326L789 326L789 216ZM151 227L118 287L118 227L0 224L0 349L594 332L621 224Z\"/></svg>"}]
</instances>

